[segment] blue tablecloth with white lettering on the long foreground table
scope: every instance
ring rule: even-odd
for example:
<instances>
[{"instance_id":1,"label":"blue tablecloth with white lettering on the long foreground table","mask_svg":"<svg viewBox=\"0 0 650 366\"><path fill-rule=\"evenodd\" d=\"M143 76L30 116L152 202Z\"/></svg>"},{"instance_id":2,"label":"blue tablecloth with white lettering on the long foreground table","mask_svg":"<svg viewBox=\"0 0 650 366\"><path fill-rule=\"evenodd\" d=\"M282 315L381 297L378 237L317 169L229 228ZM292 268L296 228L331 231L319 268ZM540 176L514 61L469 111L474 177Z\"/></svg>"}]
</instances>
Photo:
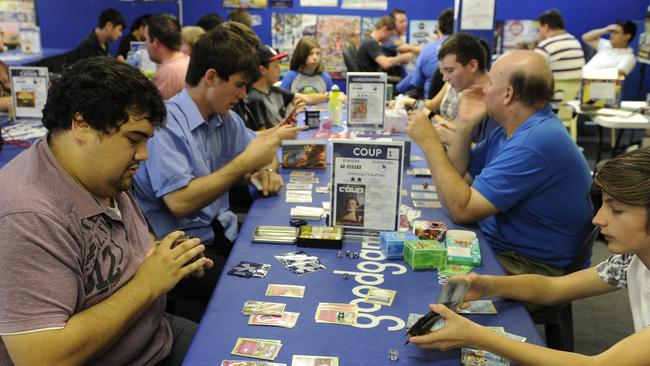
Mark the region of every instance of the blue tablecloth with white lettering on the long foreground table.
<instances>
[{"instance_id":1,"label":"blue tablecloth with white lettering on the long foreground table","mask_svg":"<svg viewBox=\"0 0 650 366\"><path fill-rule=\"evenodd\" d=\"M418 149L415 155L422 156ZM424 167L424 161L412 166ZM407 167L408 168L408 167ZM285 182L289 172L282 172ZM325 185L329 173L317 171L320 184ZM410 191L412 183L430 181L430 178L405 177L404 188ZM331 249L297 248L282 244L251 243L257 225L282 225L289 223L289 209L296 205L318 206L329 198L326 194L312 193L312 204L286 203L285 189L278 196L257 199L246 216L236 245L226 264L226 270L242 260L272 265L264 279L240 278L224 274L215 289L208 308L201 320L185 365L219 365L224 359L246 359L231 355L237 338L265 338L282 341L283 347L275 362L291 364L293 355L337 356L341 365L458 365L460 350L448 352L422 351L413 345L404 346L404 323L409 313L426 313L428 304L436 301L441 285L436 271L412 271L403 261L377 260L376 245L362 246L361 243L345 242L343 250L360 252L361 258L338 258ZM402 196L404 203L411 205L410 197ZM411 205L412 206L412 205ZM422 208L423 218L447 222L451 228L465 228L451 222L445 209ZM324 221L321 222L324 224ZM477 227L469 229L478 231ZM478 273L504 274L486 240L479 233L483 265L475 269ZM273 256L304 249L308 254L318 256L327 267L325 270L296 276L287 271ZM338 271L353 273L343 279ZM400 272L404 273L400 273ZM365 277L361 278L365 274ZM357 278L357 276L359 278ZM397 290L397 296L390 307L362 302L368 285L360 281L374 282L376 287ZM266 297L268 284L290 284L306 287L303 299L288 297ZM367 283L367 282L366 282ZM300 317L293 329L270 326L250 326L248 316L241 314L244 302L260 300L286 303L286 311L299 312ZM316 323L314 316L319 302L359 302L361 327ZM497 315L473 315L470 318L484 325L503 326L506 331L528 338L528 342L544 345L528 312L517 302L497 300ZM400 357L397 363L388 360L389 349L397 349Z\"/></svg>"}]
</instances>

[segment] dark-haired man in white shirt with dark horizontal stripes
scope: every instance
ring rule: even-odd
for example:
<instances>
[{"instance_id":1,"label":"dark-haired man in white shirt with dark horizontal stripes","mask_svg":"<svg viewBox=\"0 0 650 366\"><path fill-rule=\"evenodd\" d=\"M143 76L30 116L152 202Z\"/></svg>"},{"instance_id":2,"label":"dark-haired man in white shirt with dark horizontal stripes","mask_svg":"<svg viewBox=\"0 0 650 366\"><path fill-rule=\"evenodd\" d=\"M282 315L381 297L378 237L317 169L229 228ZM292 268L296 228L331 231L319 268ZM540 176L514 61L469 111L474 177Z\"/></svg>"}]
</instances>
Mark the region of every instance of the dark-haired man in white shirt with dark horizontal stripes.
<instances>
[{"instance_id":1,"label":"dark-haired man in white shirt with dark horizontal stripes","mask_svg":"<svg viewBox=\"0 0 650 366\"><path fill-rule=\"evenodd\" d=\"M556 9L537 17L541 42L535 49L551 66L553 79L580 80L585 55L580 41L564 29L562 14Z\"/></svg>"}]
</instances>

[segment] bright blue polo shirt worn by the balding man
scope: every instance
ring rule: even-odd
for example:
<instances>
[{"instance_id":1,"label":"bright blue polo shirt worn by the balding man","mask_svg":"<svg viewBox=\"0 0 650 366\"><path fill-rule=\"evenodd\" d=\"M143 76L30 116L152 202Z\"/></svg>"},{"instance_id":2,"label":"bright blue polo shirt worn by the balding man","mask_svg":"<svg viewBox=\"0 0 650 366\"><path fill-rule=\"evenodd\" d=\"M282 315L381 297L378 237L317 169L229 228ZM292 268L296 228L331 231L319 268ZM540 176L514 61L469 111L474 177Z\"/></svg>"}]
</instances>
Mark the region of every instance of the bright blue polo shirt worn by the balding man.
<instances>
[{"instance_id":1,"label":"bright blue polo shirt worn by the balding man","mask_svg":"<svg viewBox=\"0 0 650 366\"><path fill-rule=\"evenodd\" d=\"M472 150L472 187L499 209L479 222L496 252L566 267L591 231L587 161L549 105L510 137L502 127Z\"/></svg>"}]
</instances>

